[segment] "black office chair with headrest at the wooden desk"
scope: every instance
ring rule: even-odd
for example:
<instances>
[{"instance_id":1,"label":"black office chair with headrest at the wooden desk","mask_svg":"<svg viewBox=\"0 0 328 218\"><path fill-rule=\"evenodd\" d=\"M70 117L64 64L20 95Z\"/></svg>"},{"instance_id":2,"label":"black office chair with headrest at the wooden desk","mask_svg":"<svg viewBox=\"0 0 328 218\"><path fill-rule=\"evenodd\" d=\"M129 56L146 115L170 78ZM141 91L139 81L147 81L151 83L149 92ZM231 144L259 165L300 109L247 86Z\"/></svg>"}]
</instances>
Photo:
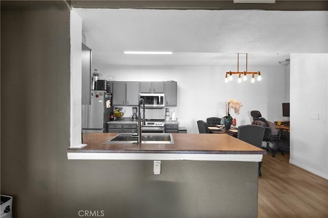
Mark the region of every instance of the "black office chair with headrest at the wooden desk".
<instances>
[{"instance_id":1,"label":"black office chair with headrest at the wooden desk","mask_svg":"<svg viewBox=\"0 0 328 218\"><path fill-rule=\"evenodd\" d=\"M265 149L272 152L272 157L275 157L275 151L280 151L281 155L284 155L283 151L280 150L279 144L285 140L281 137L280 130L275 128L275 124L262 117L259 111L251 111L251 116L253 117L253 125L260 125L265 127L265 133L263 137L263 141L267 142L267 147ZM258 121L261 121L262 123ZM274 149L274 146L270 148L270 143L273 145L274 143L278 143L278 149Z\"/></svg>"}]
</instances>

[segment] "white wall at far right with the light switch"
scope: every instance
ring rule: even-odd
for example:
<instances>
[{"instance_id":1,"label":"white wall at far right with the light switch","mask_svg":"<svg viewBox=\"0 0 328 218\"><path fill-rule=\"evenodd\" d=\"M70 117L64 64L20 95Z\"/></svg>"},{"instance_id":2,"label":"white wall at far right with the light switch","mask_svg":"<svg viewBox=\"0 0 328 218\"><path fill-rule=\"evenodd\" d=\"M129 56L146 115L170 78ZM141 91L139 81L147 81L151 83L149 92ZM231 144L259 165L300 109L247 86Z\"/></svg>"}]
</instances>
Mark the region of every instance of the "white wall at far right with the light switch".
<instances>
[{"instance_id":1,"label":"white wall at far right with the light switch","mask_svg":"<svg viewBox=\"0 0 328 218\"><path fill-rule=\"evenodd\" d=\"M328 54L291 54L290 163L328 179ZM310 116L319 114L319 119Z\"/></svg>"}]
</instances>

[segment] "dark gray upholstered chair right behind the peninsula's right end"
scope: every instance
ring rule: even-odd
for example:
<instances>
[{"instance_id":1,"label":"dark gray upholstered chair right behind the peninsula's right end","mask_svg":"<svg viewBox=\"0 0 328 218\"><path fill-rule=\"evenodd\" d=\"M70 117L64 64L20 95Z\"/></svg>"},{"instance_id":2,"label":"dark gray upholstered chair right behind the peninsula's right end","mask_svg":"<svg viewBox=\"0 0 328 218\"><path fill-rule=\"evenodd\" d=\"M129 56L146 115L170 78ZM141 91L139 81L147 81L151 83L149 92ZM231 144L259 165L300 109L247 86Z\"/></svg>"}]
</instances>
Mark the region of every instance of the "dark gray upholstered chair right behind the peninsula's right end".
<instances>
[{"instance_id":1,"label":"dark gray upholstered chair right behind the peninsula's right end","mask_svg":"<svg viewBox=\"0 0 328 218\"><path fill-rule=\"evenodd\" d=\"M238 127L237 139L250 143L256 147L262 148L262 141L265 128L260 125L241 125ZM261 173L262 161L258 162L258 175Z\"/></svg>"}]
</instances>

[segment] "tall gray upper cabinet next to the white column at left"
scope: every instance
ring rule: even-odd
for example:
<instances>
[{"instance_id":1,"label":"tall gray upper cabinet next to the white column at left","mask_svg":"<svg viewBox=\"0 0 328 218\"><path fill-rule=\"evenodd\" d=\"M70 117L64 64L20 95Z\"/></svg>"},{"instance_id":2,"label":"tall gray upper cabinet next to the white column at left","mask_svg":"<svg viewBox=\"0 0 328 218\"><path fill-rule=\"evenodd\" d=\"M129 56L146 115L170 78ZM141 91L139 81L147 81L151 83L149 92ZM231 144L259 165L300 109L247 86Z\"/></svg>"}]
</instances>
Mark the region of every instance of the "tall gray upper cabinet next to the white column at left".
<instances>
[{"instance_id":1,"label":"tall gray upper cabinet next to the white column at left","mask_svg":"<svg viewBox=\"0 0 328 218\"><path fill-rule=\"evenodd\" d=\"M81 104L91 104L91 49L82 43Z\"/></svg>"}]
</instances>

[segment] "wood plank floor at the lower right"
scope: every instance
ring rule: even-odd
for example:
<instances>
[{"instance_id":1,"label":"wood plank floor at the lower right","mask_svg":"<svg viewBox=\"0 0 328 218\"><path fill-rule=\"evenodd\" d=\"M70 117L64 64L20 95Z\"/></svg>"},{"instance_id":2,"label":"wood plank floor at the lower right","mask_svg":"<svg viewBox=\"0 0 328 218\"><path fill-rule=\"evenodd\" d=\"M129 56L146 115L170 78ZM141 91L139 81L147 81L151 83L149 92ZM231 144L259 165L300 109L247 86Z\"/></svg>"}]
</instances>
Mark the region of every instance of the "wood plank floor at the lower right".
<instances>
[{"instance_id":1,"label":"wood plank floor at the lower right","mask_svg":"<svg viewBox=\"0 0 328 218\"><path fill-rule=\"evenodd\" d=\"M289 163L289 154L262 161L258 217L328 217L328 180Z\"/></svg>"}]
</instances>

